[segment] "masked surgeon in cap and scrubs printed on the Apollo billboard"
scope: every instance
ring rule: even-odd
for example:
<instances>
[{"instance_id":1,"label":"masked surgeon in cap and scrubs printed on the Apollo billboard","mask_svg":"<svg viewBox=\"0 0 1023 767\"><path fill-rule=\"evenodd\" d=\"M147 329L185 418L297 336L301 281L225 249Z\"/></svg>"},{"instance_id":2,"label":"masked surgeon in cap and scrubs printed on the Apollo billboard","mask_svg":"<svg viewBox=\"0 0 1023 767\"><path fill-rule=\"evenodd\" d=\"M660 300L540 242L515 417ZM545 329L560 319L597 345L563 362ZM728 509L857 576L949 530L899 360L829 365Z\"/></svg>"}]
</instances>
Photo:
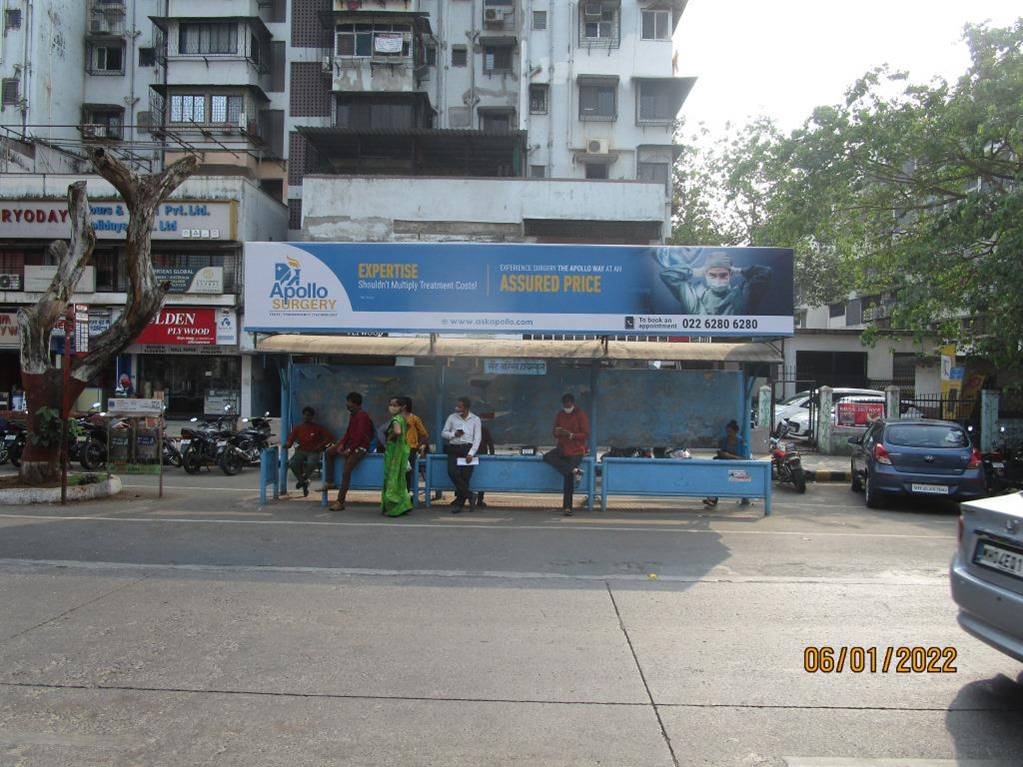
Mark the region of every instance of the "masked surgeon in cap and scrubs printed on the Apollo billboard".
<instances>
[{"instance_id":1,"label":"masked surgeon in cap and scrubs printed on the Apollo billboard","mask_svg":"<svg viewBox=\"0 0 1023 767\"><path fill-rule=\"evenodd\" d=\"M700 269L673 263L668 249L661 249L657 260L661 280L681 304L682 314L748 314L770 281L770 267L736 268L723 251L710 254Z\"/></svg>"}]
</instances>

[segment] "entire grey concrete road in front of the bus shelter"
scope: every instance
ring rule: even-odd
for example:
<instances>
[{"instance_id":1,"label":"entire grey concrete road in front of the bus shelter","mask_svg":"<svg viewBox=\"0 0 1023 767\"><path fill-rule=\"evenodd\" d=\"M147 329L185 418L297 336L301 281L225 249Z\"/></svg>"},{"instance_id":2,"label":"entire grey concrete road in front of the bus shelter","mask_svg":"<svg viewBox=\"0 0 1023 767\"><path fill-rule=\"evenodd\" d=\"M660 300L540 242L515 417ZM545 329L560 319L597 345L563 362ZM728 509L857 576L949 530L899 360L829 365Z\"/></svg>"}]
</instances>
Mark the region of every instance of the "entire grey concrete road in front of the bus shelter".
<instances>
[{"instance_id":1,"label":"entire grey concrete road in front of the bus shelter","mask_svg":"<svg viewBox=\"0 0 1023 767\"><path fill-rule=\"evenodd\" d=\"M0 509L0 764L1023 754L1023 667L955 624L951 509L868 512L815 487L779 493L769 518L687 504L392 521L259 508L251 482L179 473L163 501L139 481ZM951 646L957 672L806 673L804 648L826 644Z\"/></svg>"}]
</instances>

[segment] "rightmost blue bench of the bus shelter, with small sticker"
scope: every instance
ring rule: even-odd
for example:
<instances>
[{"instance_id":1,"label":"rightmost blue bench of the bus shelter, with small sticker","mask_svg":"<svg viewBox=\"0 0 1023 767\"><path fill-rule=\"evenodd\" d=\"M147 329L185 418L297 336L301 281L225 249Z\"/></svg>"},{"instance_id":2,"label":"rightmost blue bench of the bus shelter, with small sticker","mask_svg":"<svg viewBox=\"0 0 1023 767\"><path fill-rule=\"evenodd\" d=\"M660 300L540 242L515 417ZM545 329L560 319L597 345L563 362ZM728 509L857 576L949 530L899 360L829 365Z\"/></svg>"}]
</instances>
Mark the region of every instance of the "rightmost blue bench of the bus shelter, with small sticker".
<instances>
[{"instance_id":1,"label":"rightmost blue bench of the bus shelter, with small sticker","mask_svg":"<svg viewBox=\"0 0 1023 767\"><path fill-rule=\"evenodd\" d=\"M717 496L763 498L764 515L770 514L770 461L605 458L601 466L602 511L609 495Z\"/></svg>"}]
</instances>

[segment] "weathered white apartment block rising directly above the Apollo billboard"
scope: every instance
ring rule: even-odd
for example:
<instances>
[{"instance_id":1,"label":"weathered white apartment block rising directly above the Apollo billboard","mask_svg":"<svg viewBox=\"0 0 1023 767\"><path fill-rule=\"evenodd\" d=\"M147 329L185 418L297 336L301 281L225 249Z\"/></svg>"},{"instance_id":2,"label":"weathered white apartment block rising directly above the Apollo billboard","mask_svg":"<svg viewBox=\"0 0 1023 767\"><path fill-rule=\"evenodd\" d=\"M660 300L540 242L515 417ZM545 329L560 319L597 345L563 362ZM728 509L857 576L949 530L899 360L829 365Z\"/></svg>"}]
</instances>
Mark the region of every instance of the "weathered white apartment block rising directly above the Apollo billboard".
<instances>
[{"instance_id":1,"label":"weathered white apartment block rising directly above the Apollo billboard","mask_svg":"<svg viewBox=\"0 0 1023 767\"><path fill-rule=\"evenodd\" d=\"M295 0L291 236L661 240L673 124L695 82L674 73L684 6ZM462 181L438 197L437 178ZM472 181L510 178L550 183ZM495 194L492 216L459 215Z\"/></svg>"}]
</instances>

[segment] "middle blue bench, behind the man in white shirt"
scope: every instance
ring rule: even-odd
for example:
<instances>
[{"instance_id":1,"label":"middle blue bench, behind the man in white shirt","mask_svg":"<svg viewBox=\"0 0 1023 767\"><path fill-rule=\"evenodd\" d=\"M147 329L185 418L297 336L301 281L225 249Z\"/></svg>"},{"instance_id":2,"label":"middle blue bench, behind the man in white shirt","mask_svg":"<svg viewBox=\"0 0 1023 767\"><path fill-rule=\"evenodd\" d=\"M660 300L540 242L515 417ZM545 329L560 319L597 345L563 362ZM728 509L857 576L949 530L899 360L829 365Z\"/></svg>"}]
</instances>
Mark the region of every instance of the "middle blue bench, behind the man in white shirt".
<instances>
[{"instance_id":1,"label":"middle blue bench, behind the man in white shirt","mask_svg":"<svg viewBox=\"0 0 1023 767\"><path fill-rule=\"evenodd\" d=\"M586 505L592 510L596 495L593 459L583 458L579 468L582 469L582 479L578 492L587 497ZM564 483L565 478L538 455L481 455L470 486L474 492L561 494ZM430 495L435 490L454 490L447 473L447 456L440 453L427 456L428 506Z\"/></svg>"}]
</instances>

